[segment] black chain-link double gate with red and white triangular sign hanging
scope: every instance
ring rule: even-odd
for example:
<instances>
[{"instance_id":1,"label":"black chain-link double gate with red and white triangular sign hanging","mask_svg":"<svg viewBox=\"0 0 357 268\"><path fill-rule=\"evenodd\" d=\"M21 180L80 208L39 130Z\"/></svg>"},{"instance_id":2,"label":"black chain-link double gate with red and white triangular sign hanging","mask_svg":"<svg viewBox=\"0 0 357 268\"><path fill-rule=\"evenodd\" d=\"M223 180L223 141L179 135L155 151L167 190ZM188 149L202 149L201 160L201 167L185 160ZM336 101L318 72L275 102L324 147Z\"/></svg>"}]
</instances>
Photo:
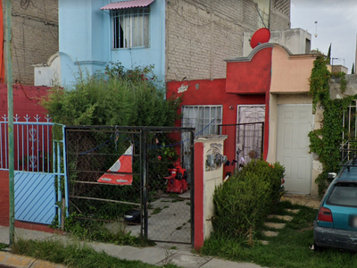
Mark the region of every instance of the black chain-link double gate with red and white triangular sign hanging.
<instances>
[{"instance_id":1,"label":"black chain-link double gate with red and white triangular sign hanging","mask_svg":"<svg viewBox=\"0 0 357 268\"><path fill-rule=\"evenodd\" d=\"M185 131L191 138L181 141ZM182 143L193 148L193 131L66 127L70 213L83 221L105 222L109 229L124 222L132 235L145 239L191 243L193 183L182 185L183 176L193 171L182 172L182 178L171 174L178 170L173 164L181 163ZM170 179L181 188L170 188ZM172 235L183 229L185 235Z\"/></svg>"}]
</instances>

